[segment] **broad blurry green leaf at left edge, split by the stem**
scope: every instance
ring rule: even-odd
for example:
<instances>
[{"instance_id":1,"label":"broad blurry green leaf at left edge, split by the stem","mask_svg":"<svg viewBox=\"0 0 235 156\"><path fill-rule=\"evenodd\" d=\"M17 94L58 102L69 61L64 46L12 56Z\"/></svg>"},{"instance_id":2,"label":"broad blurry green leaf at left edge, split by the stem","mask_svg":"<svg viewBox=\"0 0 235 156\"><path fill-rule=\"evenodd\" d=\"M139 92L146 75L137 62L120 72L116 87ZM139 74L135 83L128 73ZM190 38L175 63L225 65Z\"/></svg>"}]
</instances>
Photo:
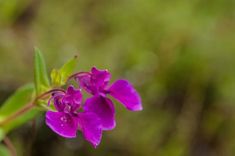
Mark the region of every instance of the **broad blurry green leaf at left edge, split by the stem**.
<instances>
[{"instance_id":1,"label":"broad blurry green leaf at left edge, split by the stem","mask_svg":"<svg viewBox=\"0 0 235 156\"><path fill-rule=\"evenodd\" d=\"M0 122L5 120L9 115L14 114L24 106L32 102L34 86L32 84L25 85L19 88L11 97L9 97L3 106L0 108ZM7 133L11 129L32 119L39 111L34 108L24 113L23 115L9 121L1 126L3 133Z\"/></svg>"}]
</instances>

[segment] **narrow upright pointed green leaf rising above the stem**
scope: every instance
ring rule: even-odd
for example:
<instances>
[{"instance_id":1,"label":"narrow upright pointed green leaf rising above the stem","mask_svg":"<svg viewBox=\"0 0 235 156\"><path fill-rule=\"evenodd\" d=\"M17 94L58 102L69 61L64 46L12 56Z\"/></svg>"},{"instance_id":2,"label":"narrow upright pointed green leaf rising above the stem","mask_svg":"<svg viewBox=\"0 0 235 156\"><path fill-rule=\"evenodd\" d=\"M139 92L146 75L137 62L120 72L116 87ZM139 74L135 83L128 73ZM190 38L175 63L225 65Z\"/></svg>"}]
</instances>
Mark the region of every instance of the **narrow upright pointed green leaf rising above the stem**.
<instances>
[{"instance_id":1,"label":"narrow upright pointed green leaf rising above the stem","mask_svg":"<svg viewBox=\"0 0 235 156\"><path fill-rule=\"evenodd\" d=\"M50 87L46 64L43 55L38 48L35 48L34 55L34 81L37 95L47 91Z\"/></svg>"}]
</instances>

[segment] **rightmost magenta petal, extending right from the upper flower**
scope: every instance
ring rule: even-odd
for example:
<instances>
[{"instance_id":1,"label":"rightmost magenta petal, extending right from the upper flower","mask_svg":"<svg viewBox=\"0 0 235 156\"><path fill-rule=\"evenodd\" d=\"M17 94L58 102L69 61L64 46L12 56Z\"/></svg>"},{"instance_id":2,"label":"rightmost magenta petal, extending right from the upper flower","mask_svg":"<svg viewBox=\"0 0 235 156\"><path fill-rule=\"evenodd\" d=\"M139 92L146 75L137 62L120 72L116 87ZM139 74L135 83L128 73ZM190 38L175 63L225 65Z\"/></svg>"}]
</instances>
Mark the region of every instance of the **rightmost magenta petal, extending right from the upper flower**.
<instances>
[{"instance_id":1,"label":"rightmost magenta petal, extending right from the upper flower","mask_svg":"<svg viewBox=\"0 0 235 156\"><path fill-rule=\"evenodd\" d=\"M110 95L131 111L142 110L141 98L134 87L126 80L117 80L109 89Z\"/></svg>"}]
</instances>

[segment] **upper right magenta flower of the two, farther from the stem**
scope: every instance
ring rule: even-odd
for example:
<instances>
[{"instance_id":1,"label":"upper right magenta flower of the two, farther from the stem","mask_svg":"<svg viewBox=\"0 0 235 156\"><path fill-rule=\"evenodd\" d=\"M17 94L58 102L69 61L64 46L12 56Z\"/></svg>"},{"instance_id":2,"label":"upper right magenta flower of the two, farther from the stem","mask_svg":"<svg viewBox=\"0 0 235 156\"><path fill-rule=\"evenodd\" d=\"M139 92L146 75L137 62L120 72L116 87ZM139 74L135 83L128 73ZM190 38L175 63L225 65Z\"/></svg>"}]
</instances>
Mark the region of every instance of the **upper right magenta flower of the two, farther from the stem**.
<instances>
[{"instance_id":1,"label":"upper right magenta flower of the two, farther from the stem","mask_svg":"<svg viewBox=\"0 0 235 156\"><path fill-rule=\"evenodd\" d=\"M84 110L95 113L101 120L102 130L115 127L115 109L107 94L121 102L128 110L142 110L141 98L127 80L117 80L108 86L111 74L108 70L93 67L90 72L78 73L75 80L93 96L85 101Z\"/></svg>"}]
</instances>

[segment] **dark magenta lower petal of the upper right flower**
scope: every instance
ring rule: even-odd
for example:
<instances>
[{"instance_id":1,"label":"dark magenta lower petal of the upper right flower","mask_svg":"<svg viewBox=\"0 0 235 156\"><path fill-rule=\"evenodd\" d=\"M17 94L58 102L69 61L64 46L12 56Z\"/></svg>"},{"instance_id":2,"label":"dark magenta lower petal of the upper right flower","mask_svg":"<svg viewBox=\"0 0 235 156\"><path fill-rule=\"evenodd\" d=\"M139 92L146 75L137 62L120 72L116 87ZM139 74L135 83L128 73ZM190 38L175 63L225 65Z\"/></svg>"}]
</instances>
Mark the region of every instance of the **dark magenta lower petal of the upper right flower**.
<instances>
[{"instance_id":1,"label":"dark magenta lower petal of the upper right flower","mask_svg":"<svg viewBox=\"0 0 235 156\"><path fill-rule=\"evenodd\" d=\"M93 96L86 100L84 110L97 114L103 130L111 130L116 126L114 105L108 98Z\"/></svg>"}]
</instances>

